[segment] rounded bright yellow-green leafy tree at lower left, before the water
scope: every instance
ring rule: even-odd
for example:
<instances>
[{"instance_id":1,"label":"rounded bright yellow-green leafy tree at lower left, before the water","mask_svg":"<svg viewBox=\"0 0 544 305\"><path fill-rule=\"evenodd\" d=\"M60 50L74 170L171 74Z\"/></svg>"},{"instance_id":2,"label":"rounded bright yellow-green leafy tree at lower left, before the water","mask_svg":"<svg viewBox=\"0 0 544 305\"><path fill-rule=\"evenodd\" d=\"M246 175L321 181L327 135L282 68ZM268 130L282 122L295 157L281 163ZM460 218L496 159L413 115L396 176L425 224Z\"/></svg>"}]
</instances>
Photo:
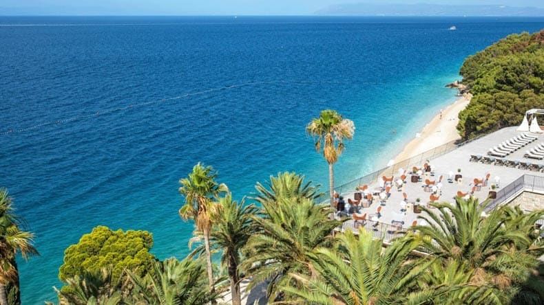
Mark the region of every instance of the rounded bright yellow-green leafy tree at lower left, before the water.
<instances>
[{"instance_id":1,"label":"rounded bright yellow-green leafy tree at lower left, before the water","mask_svg":"<svg viewBox=\"0 0 544 305\"><path fill-rule=\"evenodd\" d=\"M83 235L76 245L64 251L59 278L65 281L76 275L96 273L101 268L111 268L114 281L121 277L125 268L145 275L156 260L149 253L151 247L153 236L148 231L123 232L121 229L112 231L104 226L95 227L90 234Z\"/></svg>"}]
</instances>

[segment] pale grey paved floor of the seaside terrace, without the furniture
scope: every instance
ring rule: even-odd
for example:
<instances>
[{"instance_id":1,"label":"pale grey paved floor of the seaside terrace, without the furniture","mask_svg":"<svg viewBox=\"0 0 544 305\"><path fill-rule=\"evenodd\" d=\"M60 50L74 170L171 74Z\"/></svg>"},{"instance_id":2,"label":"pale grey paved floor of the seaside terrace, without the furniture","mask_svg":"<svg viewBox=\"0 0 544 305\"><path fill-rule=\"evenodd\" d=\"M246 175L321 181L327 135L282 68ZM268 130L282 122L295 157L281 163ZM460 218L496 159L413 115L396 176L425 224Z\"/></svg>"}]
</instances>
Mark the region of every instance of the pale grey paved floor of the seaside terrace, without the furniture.
<instances>
[{"instance_id":1,"label":"pale grey paved floor of the seaside terrace, without the furniture","mask_svg":"<svg viewBox=\"0 0 544 305\"><path fill-rule=\"evenodd\" d=\"M509 183L512 183L514 180L518 179L519 177L521 177L521 175L525 173L544 176L543 172L523 170L521 168L512 168L507 166L496 166L494 164L485 164L481 162L470 161L470 155L488 156L487 152L489 148L493 146L498 146L499 144L501 144L501 142L504 142L520 134L520 132L516 131L516 127L503 128L499 131L491 133L490 135L485 135L484 137L476 139L473 142L460 146L459 148L452 150L450 153L446 153L445 155L441 155L440 157L437 157L435 159L430 159L429 163L432 166L434 172L434 176L430 177L430 180L438 181L439 177L443 176L443 186L438 201L454 203L455 196L457 196L457 191L461 191L463 193L470 192L472 186L474 185L474 178L485 179L485 176L488 173L490 174L488 185L483 186L481 187L481 190L474 192L474 197L479 199L480 202L487 199L488 193L491 189L490 186L494 184L495 177L499 177L499 188L496 190L500 190L500 188L503 188ZM530 144L527 144L526 146L523 146L519 150L516 150L511 155L505 157L505 159L544 164L544 160L527 159L523 157L523 154L525 154L525 150L529 150L533 146L544 142L544 135L538 135L535 133L529 133L529 135L538 137L538 139L536 139L534 142L531 142ZM414 166L421 168L423 164L416 164ZM457 174L458 168L461 168L461 174L463 175L462 182L448 183L448 173L453 172L454 174ZM406 168L406 170L408 170L408 168ZM411 167L408 171L411 172ZM398 170L395 170L394 181L397 181L399 177L400 174ZM425 181L425 177L423 177L423 181ZM368 189L372 191L376 188L379 188L380 185L381 179L379 179L378 182L368 185ZM408 195L408 208L406 209L406 213L401 212L401 201L403 200L403 192L406 192L406 194ZM344 196L344 200L346 201L346 203L348 203L348 199L355 200L354 194L355 192L350 192L347 194L342 194L342 196ZM402 190L397 190L397 188L393 184L393 187L390 190L390 197L386 200L384 205L381 205L378 200L374 200L370 207L360 208L359 213L367 214L366 219L371 220L373 216L375 216L377 208L381 206L381 216L378 218L380 223L391 224L392 221L404 221L403 226L410 227L413 221L417 221L417 216L424 215L423 213L414 213L413 208L411 208L412 204L417 198L419 198L421 199L421 204L425 205L429 202L431 194L432 193L430 192L424 192L422 182L412 183L410 181L410 174L407 174L406 183L404 184ZM353 221L345 223L344 228L350 224L353 225Z\"/></svg>"}]
</instances>

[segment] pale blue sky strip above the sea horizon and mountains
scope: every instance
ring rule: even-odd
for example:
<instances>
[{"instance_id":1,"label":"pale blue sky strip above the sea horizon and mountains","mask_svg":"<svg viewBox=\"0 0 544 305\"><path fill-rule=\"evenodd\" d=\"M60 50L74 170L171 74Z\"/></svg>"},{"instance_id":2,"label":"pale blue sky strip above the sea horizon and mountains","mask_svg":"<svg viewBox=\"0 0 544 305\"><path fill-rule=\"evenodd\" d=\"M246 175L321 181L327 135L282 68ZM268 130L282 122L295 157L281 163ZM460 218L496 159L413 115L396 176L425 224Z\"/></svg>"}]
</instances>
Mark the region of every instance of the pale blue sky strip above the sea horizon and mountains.
<instances>
[{"instance_id":1,"label":"pale blue sky strip above the sea horizon and mountains","mask_svg":"<svg viewBox=\"0 0 544 305\"><path fill-rule=\"evenodd\" d=\"M0 14L305 15L344 3L431 3L544 8L543 0L0 0Z\"/></svg>"}]
</instances>

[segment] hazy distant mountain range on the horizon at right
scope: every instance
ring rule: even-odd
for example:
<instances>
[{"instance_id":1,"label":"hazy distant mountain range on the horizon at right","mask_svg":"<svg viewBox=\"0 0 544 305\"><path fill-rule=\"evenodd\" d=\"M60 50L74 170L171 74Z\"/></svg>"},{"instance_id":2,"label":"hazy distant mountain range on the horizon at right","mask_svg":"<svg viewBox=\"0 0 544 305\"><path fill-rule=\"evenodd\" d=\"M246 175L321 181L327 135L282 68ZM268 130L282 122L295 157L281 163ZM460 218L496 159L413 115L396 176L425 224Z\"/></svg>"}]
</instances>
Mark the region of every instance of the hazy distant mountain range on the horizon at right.
<instances>
[{"instance_id":1,"label":"hazy distant mountain range on the horizon at right","mask_svg":"<svg viewBox=\"0 0 544 305\"><path fill-rule=\"evenodd\" d=\"M348 3L330 5L317 15L346 16L544 16L544 8L506 5L439 5Z\"/></svg>"}]
</instances>

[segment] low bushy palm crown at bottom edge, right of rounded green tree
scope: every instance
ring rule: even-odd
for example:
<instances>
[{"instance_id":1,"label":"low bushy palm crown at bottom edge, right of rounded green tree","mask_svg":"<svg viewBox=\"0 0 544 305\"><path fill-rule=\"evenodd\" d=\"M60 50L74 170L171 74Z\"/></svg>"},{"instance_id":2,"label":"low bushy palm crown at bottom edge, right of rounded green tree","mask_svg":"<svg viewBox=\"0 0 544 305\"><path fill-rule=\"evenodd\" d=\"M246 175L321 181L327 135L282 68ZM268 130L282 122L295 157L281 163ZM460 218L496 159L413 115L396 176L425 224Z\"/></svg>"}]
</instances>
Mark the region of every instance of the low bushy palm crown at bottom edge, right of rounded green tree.
<instances>
[{"instance_id":1,"label":"low bushy palm crown at bottom edge, right of rounded green tree","mask_svg":"<svg viewBox=\"0 0 544 305\"><path fill-rule=\"evenodd\" d=\"M154 262L153 270L143 278L132 271L128 275L134 293L127 304L203 305L217 297L207 289L205 267L200 260L186 258L180 262L169 258Z\"/></svg>"}]
</instances>

